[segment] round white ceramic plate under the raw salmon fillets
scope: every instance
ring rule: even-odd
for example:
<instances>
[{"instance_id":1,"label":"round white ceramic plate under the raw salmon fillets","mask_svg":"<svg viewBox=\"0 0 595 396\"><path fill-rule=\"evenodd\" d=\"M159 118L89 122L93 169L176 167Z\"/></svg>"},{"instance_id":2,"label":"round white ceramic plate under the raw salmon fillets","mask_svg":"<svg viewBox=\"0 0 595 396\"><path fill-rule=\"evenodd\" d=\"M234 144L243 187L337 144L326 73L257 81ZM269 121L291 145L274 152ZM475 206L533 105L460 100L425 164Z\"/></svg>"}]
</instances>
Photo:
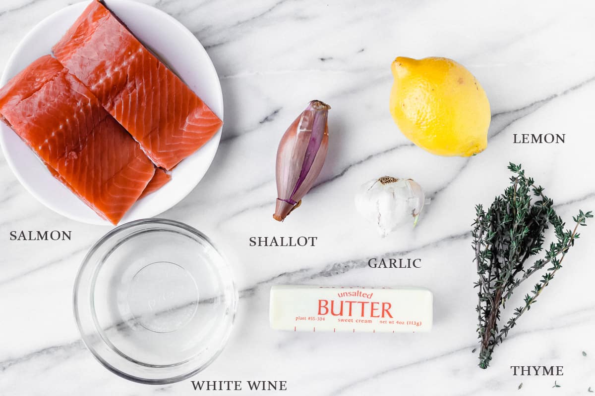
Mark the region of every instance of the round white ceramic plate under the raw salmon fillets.
<instances>
[{"instance_id":1,"label":"round white ceramic plate under the raw salmon fillets","mask_svg":"<svg viewBox=\"0 0 595 396\"><path fill-rule=\"evenodd\" d=\"M89 1L70 5L41 21L24 37L12 53L0 87L42 55L82 14ZM217 71L201 43L179 21L149 5L131 0L105 0L105 4L130 28L143 44L154 50L177 75L223 119L223 94ZM173 207L186 197L211 165L221 138L221 129L196 153L172 172L169 183L140 199L126 213L120 224L153 217ZM48 208L90 224L110 223L87 207L68 188L58 182L17 134L0 122L0 143L4 156L17 179Z\"/></svg>"}]
</instances>

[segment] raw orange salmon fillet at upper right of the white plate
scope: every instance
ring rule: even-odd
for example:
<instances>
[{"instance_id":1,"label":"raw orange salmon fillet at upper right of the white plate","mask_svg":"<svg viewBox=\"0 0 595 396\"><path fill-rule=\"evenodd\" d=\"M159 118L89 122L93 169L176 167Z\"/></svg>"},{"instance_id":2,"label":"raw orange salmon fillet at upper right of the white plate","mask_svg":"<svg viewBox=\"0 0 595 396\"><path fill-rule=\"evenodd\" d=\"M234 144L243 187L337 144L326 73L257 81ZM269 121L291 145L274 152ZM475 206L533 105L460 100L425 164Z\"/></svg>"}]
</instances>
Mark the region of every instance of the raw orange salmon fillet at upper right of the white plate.
<instances>
[{"instance_id":1,"label":"raw orange salmon fillet at upper right of the white plate","mask_svg":"<svg viewBox=\"0 0 595 396\"><path fill-rule=\"evenodd\" d=\"M52 49L156 164L171 170L223 122L101 1Z\"/></svg>"}]
</instances>

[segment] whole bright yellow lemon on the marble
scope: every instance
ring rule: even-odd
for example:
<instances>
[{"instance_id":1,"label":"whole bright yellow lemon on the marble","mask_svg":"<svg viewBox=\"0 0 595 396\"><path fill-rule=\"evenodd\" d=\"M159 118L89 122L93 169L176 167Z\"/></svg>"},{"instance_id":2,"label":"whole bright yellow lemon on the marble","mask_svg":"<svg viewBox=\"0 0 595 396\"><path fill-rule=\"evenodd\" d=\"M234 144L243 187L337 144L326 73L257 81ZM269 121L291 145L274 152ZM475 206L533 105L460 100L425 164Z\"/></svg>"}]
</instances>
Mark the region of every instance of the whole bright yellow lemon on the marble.
<instances>
[{"instance_id":1,"label":"whole bright yellow lemon on the marble","mask_svg":"<svg viewBox=\"0 0 595 396\"><path fill-rule=\"evenodd\" d=\"M464 66L399 56L392 71L390 113L409 140L439 156L469 157L486 149L490 103Z\"/></svg>"}]
</instances>

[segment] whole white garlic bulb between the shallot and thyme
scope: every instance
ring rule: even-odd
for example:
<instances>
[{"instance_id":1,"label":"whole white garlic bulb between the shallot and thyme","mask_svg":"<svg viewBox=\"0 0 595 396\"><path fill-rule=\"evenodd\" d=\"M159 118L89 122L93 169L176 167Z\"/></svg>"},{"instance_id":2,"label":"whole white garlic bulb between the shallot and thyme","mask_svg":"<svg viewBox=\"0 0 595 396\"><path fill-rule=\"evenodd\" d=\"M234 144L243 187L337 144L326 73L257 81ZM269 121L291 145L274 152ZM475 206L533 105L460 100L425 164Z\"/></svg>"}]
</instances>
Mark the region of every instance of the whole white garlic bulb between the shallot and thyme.
<instances>
[{"instance_id":1,"label":"whole white garlic bulb between the shallot and thyme","mask_svg":"<svg viewBox=\"0 0 595 396\"><path fill-rule=\"evenodd\" d=\"M413 218L417 224L419 213L426 202L421 186L412 179L383 176L362 185L355 195L359 213L377 224L381 237Z\"/></svg>"}]
</instances>

